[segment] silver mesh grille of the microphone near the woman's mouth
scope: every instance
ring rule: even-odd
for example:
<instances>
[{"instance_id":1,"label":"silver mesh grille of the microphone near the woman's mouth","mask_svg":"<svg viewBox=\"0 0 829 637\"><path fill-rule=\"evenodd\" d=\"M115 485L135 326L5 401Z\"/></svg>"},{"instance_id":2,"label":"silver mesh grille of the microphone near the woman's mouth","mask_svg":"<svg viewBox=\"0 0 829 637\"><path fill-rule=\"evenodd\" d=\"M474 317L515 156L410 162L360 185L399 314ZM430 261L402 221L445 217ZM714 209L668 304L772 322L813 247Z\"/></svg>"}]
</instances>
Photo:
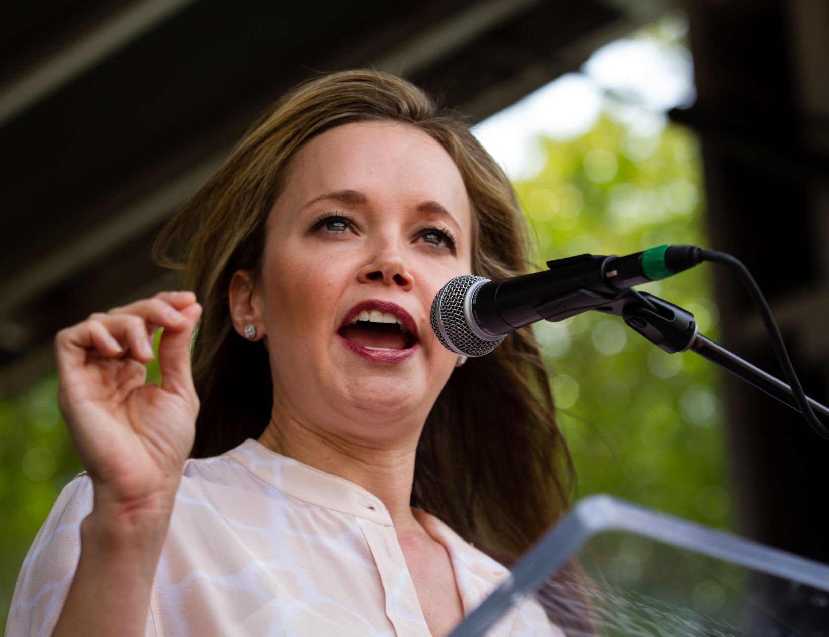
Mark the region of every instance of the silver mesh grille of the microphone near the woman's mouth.
<instances>
[{"instance_id":1,"label":"silver mesh grille of the microphone near the woman's mouth","mask_svg":"<svg viewBox=\"0 0 829 637\"><path fill-rule=\"evenodd\" d=\"M432 301L432 310L429 312L429 322L432 331L438 337L441 345L455 354L463 356L482 356L489 354L507 336L495 341L484 341L472 331L469 326L471 318L467 318L464 311L464 301L470 287L479 281L487 282L485 277L474 277L466 274L455 277L448 282Z\"/></svg>"}]
</instances>

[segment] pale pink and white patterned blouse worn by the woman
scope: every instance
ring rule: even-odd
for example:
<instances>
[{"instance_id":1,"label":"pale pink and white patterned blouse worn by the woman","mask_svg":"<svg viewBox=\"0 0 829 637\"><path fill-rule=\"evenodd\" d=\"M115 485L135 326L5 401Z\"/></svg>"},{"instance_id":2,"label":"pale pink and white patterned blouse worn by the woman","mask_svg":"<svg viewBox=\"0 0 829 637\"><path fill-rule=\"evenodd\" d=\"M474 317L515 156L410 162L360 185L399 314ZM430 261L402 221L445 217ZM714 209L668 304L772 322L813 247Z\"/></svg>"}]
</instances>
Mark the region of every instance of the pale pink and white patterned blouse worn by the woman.
<instances>
[{"instance_id":1,"label":"pale pink and white patterned blouse worn by the woman","mask_svg":"<svg viewBox=\"0 0 829 637\"><path fill-rule=\"evenodd\" d=\"M58 497L23 562L6 635L51 635L92 509L81 473ZM443 522L414 510L446 547L463 611L507 576ZM379 498L248 439L188 460L158 563L146 635L430 637ZM562 635L525 603L489 635Z\"/></svg>"}]
</instances>

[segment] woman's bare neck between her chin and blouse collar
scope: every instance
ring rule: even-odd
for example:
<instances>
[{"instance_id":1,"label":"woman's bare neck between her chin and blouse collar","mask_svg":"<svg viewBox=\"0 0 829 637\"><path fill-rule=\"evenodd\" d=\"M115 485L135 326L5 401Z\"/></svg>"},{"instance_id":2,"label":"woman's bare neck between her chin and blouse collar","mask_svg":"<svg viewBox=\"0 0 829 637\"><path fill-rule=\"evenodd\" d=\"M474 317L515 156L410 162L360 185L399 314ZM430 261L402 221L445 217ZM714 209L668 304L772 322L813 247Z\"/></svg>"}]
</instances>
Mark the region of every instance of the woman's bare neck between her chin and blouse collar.
<instances>
[{"instance_id":1,"label":"woman's bare neck between her chin and blouse collar","mask_svg":"<svg viewBox=\"0 0 829 637\"><path fill-rule=\"evenodd\" d=\"M385 505L398 533L420 531L410 508L417 438L376 447L280 416L271 419L259 443L371 492Z\"/></svg>"}]
</instances>

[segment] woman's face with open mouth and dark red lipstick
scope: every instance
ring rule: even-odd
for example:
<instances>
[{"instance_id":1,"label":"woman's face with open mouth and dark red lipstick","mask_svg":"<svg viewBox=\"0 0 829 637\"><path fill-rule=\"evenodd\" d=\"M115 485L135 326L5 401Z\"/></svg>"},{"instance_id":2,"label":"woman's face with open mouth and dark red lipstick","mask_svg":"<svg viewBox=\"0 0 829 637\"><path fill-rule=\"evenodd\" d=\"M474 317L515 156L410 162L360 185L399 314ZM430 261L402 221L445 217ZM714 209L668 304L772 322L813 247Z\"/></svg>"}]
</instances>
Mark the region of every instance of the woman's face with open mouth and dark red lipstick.
<instances>
[{"instance_id":1,"label":"woman's face with open mouth and dark red lipstick","mask_svg":"<svg viewBox=\"0 0 829 637\"><path fill-rule=\"evenodd\" d=\"M471 272L471 214L453 159L413 127L343 125L298 151L253 298L277 419L363 441L419 434L457 360L429 307Z\"/></svg>"}]
</instances>

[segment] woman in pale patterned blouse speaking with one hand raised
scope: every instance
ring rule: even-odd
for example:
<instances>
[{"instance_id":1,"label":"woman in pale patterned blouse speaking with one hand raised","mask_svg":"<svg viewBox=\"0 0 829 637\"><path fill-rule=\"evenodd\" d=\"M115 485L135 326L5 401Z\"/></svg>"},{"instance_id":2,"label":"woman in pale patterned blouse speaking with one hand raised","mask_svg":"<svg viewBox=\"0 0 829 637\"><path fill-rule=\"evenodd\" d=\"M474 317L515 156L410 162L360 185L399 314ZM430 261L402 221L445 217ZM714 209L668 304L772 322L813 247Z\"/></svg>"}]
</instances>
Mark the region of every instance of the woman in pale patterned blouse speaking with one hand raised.
<instances>
[{"instance_id":1,"label":"woman in pale patterned blouse speaking with one hand raised","mask_svg":"<svg viewBox=\"0 0 829 637\"><path fill-rule=\"evenodd\" d=\"M525 272L526 229L497 164L410 83L296 87L156 251L191 292L56 338L86 470L7 635L447 635L565 508L531 332L467 362L429 327L449 279ZM492 635L560 630L525 602Z\"/></svg>"}]
</instances>

